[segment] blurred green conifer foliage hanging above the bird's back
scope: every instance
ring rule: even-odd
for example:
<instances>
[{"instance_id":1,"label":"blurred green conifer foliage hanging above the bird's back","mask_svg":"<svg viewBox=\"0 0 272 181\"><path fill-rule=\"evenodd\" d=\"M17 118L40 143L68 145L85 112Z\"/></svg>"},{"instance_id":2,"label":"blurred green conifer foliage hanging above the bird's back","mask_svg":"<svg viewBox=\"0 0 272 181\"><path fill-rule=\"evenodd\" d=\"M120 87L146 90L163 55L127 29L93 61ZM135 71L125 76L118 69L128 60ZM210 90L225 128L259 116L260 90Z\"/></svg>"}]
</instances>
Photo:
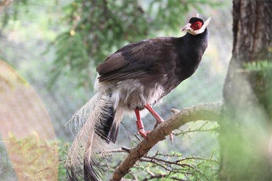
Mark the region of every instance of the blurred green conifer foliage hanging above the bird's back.
<instances>
[{"instance_id":1,"label":"blurred green conifer foliage hanging above the bird's back","mask_svg":"<svg viewBox=\"0 0 272 181\"><path fill-rule=\"evenodd\" d=\"M56 59L49 87L65 70L78 77L79 85L90 85L94 74L90 67L123 45L155 36L160 30L177 31L184 15L199 4L218 5L218 2L199 1L114 1L74 0L64 8L63 23L67 30L48 46L54 45ZM45 51L46 52L46 51Z\"/></svg>"}]
</instances>

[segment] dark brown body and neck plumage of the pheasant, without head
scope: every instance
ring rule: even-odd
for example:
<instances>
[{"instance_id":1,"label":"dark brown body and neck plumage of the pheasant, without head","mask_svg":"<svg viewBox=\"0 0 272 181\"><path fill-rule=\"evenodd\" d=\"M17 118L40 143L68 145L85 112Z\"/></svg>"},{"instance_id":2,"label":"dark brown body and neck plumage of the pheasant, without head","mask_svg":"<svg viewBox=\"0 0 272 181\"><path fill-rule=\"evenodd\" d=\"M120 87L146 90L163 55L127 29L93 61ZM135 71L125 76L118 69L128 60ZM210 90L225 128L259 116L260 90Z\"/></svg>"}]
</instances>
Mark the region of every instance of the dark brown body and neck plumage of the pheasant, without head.
<instances>
[{"instance_id":1,"label":"dark brown body and neck plumage of the pheasant, without head","mask_svg":"<svg viewBox=\"0 0 272 181\"><path fill-rule=\"evenodd\" d=\"M122 47L99 64L96 68L100 75L98 80L136 78L145 89L155 84L162 86L165 96L196 71L207 45L207 29L197 36L186 34L137 41Z\"/></svg>"}]
</instances>

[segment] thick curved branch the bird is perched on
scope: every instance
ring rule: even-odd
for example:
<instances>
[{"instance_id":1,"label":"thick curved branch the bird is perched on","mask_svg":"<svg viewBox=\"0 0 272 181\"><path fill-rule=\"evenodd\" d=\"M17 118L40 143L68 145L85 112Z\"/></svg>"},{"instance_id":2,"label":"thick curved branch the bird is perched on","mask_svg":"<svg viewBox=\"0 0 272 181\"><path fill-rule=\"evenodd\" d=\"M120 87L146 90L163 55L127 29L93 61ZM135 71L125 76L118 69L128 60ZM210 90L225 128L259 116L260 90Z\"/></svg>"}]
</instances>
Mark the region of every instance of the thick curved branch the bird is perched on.
<instances>
[{"instance_id":1,"label":"thick curved branch the bird is perched on","mask_svg":"<svg viewBox=\"0 0 272 181\"><path fill-rule=\"evenodd\" d=\"M218 120L221 111L221 105L216 103L200 104L178 111L174 109L174 113L170 118L157 126L147 135L148 141L142 140L136 147L130 149L129 154L115 170L110 181L120 181L148 151L158 142L165 140L175 129L180 128L187 122L197 120Z\"/></svg>"}]
</instances>

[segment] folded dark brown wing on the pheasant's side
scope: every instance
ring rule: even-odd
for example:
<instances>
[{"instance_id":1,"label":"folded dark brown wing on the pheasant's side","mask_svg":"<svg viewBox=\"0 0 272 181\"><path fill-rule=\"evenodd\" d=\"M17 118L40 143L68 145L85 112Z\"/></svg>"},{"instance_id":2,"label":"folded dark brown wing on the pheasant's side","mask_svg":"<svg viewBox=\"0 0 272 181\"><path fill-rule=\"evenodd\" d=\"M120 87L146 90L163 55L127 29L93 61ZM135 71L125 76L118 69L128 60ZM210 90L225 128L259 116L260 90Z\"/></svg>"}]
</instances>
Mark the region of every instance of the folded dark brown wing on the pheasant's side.
<instances>
[{"instance_id":1,"label":"folded dark brown wing on the pheasant's side","mask_svg":"<svg viewBox=\"0 0 272 181\"><path fill-rule=\"evenodd\" d=\"M166 74L163 63L169 54L170 37L159 37L126 45L107 57L96 71L99 81Z\"/></svg>"}]
</instances>

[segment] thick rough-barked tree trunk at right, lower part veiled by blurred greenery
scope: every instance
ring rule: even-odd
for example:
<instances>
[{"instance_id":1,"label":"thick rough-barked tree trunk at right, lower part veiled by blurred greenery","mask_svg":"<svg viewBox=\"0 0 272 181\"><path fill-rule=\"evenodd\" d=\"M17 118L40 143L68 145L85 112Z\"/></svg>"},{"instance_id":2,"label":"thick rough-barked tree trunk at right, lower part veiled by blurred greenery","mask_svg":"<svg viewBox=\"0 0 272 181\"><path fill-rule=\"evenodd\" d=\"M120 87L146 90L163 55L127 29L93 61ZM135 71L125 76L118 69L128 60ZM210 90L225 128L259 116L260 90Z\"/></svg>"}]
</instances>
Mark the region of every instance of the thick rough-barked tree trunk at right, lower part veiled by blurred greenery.
<instances>
[{"instance_id":1,"label":"thick rough-barked tree trunk at right, lower part veiled by blurred greenery","mask_svg":"<svg viewBox=\"0 0 272 181\"><path fill-rule=\"evenodd\" d=\"M233 0L233 50L224 85L221 180L272 180L271 72L243 63L272 61L272 1Z\"/></svg>"}]
</instances>

